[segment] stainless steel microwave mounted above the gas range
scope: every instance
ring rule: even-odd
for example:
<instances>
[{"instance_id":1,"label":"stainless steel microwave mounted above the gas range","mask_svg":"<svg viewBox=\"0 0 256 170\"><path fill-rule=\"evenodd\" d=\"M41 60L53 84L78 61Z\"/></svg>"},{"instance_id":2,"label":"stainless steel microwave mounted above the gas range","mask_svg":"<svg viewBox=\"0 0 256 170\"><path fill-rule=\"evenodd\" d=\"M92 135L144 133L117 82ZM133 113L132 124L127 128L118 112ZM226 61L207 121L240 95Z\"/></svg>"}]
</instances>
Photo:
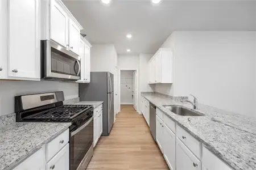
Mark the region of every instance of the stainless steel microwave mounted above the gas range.
<instances>
[{"instance_id":1,"label":"stainless steel microwave mounted above the gas range","mask_svg":"<svg viewBox=\"0 0 256 170\"><path fill-rule=\"evenodd\" d=\"M81 58L51 40L41 40L41 79L76 81L81 78Z\"/></svg>"}]
</instances>

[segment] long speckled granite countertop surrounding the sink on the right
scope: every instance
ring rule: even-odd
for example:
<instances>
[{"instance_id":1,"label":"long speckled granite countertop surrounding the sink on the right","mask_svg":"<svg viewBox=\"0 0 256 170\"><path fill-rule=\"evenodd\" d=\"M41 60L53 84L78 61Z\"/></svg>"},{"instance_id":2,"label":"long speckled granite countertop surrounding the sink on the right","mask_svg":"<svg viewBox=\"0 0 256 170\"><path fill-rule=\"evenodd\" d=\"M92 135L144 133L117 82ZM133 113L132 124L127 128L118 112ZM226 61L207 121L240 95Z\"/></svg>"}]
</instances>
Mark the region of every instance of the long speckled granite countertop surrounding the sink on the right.
<instances>
[{"instance_id":1,"label":"long speckled granite countertop surrounding the sink on the right","mask_svg":"<svg viewBox=\"0 0 256 170\"><path fill-rule=\"evenodd\" d=\"M256 118L226 112L199 104L197 112L205 116L179 116L163 105L181 105L192 110L189 103L154 93L142 93L147 100L176 121L205 147L236 170L256 169Z\"/></svg>"}]
</instances>

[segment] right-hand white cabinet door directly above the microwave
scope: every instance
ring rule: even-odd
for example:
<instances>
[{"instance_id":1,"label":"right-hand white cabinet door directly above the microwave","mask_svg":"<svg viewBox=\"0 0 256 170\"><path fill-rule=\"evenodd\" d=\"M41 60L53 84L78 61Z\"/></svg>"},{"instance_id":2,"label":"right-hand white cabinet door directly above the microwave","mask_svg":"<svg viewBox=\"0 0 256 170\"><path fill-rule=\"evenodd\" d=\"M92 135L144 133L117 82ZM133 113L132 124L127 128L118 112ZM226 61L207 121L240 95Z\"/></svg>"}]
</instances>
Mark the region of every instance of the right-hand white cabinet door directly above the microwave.
<instances>
[{"instance_id":1,"label":"right-hand white cabinet door directly above the microwave","mask_svg":"<svg viewBox=\"0 0 256 170\"><path fill-rule=\"evenodd\" d=\"M79 54L80 29L69 19L69 50Z\"/></svg>"}]
</instances>

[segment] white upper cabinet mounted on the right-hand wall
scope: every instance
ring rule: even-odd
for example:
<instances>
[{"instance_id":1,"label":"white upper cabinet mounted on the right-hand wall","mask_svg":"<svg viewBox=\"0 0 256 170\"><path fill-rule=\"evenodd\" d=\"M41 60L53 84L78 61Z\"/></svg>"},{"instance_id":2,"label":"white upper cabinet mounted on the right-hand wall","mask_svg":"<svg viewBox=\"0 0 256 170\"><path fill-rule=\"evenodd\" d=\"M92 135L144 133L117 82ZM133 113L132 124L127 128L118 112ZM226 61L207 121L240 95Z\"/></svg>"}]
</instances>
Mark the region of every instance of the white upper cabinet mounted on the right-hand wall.
<instances>
[{"instance_id":1,"label":"white upper cabinet mounted on the right-hand wall","mask_svg":"<svg viewBox=\"0 0 256 170\"><path fill-rule=\"evenodd\" d=\"M148 61L148 84L172 83L172 51L160 48Z\"/></svg>"}]
</instances>

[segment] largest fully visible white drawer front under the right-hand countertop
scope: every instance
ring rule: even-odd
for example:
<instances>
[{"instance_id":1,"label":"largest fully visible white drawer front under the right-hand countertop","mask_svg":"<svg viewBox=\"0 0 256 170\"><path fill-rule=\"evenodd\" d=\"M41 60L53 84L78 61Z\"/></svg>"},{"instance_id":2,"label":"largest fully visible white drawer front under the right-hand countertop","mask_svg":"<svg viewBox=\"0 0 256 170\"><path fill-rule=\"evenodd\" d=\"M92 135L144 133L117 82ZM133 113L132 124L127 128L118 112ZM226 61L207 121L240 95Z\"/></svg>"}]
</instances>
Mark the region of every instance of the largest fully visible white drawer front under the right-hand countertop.
<instances>
[{"instance_id":1,"label":"largest fully visible white drawer front under the right-hand countertop","mask_svg":"<svg viewBox=\"0 0 256 170\"><path fill-rule=\"evenodd\" d=\"M200 142L179 125L177 125L176 130L176 135L180 141L182 141L189 148L189 150L191 150L193 154L197 156L197 158L200 158Z\"/></svg>"}]
</instances>

